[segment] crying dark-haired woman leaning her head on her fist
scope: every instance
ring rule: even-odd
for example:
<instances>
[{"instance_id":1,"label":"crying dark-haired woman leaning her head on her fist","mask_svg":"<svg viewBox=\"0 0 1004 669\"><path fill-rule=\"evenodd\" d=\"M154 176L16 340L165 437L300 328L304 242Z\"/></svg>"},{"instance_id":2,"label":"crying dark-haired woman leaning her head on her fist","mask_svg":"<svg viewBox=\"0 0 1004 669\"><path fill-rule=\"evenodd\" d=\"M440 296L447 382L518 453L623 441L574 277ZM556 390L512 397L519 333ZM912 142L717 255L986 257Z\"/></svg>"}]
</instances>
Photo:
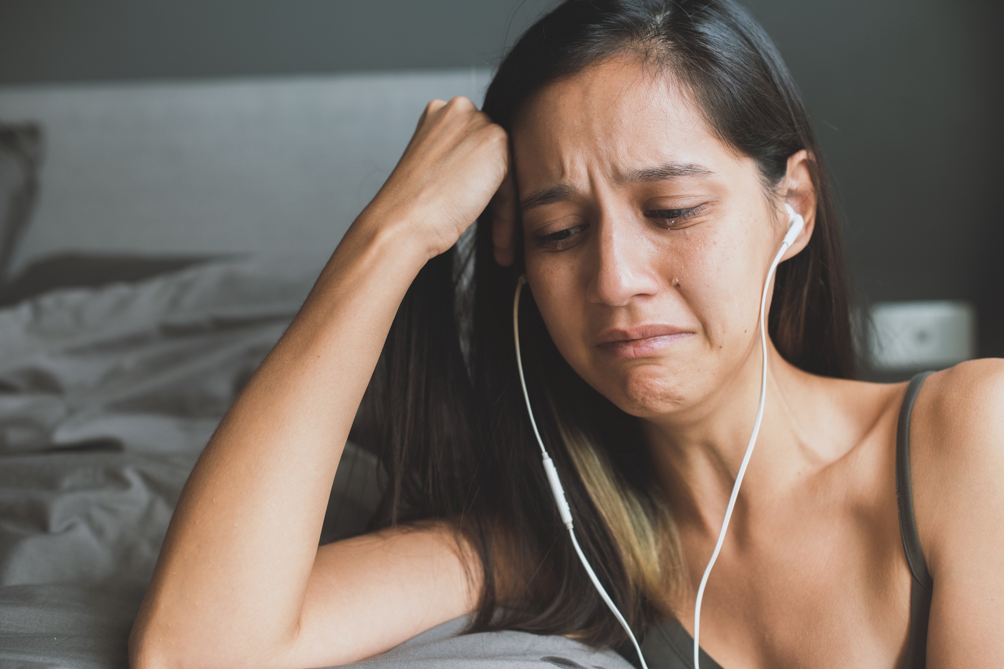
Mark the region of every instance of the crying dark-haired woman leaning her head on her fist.
<instances>
[{"instance_id":1,"label":"crying dark-haired woman leaning her head on her fist","mask_svg":"<svg viewBox=\"0 0 1004 669\"><path fill-rule=\"evenodd\" d=\"M526 381L579 542L638 633L685 638L757 410L785 205L805 225L768 287L766 410L702 646L733 668L1004 666L1004 364L910 393L850 380L819 149L730 0L565 2L483 111L429 104L193 471L134 665L341 664L465 615L623 642L525 413L524 274ZM384 529L318 548L364 394Z\"/></svg>"}]
</instances>

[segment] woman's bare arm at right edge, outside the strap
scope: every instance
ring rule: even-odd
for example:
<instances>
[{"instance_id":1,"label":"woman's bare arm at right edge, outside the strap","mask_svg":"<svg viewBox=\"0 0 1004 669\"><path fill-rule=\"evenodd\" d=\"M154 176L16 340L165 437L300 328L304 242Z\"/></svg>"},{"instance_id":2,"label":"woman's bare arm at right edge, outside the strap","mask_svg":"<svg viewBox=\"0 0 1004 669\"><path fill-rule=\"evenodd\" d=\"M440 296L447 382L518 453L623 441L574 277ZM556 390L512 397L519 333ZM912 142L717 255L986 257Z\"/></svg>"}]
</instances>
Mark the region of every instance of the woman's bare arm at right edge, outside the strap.
<instances>
[{"instance_id":1,"label":"woman's bare arm at right edge, outside the strap","mask_svg":"<svg viewBox=\"0 0 1004 669\"><path fill-rule=\"evenodd\" d=\"M1004 360L932 375L912 423L914 505L934 581L928 666L1004 667Z\"/></svg>"}]
</instances>

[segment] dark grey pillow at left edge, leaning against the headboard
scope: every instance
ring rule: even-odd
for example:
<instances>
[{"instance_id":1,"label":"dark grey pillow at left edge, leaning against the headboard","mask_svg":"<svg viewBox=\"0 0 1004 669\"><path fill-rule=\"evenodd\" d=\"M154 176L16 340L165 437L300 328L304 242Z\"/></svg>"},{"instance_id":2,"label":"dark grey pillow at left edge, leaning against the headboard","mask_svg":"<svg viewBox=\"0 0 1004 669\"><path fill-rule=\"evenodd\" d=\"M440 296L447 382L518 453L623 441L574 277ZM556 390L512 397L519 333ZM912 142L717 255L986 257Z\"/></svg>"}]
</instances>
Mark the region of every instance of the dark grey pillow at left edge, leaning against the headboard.
<instances>
[{"instance_id":1,"label":"dark grey pillow at left edge, leaning against the headboard","mask_svg":"<svg viewBox=\"0 0 1004 669\"><path fill-rule=\"evenodd\" d=\"M41 143L34 123L0 123L0 280L7 276L38 195Z\"/></svg>"}]
</instances>

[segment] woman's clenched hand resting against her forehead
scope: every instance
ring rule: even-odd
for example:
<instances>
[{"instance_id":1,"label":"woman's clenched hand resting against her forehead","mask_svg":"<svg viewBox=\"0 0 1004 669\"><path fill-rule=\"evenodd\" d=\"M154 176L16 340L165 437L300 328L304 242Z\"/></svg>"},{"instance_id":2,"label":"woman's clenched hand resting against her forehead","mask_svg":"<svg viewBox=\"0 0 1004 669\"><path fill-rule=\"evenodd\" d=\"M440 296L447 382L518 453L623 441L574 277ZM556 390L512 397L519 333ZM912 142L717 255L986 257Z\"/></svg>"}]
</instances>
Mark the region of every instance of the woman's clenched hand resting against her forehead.
<instances>
[{"instance_id":1,"label":"woman's clenched hand resting against her forehead","mask_svg":"<svg viewBox=\"0 0 1004 669\"><path fill-rule=\"evenodd\" d=\"M433 100L356 225L398 225L426 260L460 238L509 169L508 136L466 97Z\"/></svg>"}]
</instances>

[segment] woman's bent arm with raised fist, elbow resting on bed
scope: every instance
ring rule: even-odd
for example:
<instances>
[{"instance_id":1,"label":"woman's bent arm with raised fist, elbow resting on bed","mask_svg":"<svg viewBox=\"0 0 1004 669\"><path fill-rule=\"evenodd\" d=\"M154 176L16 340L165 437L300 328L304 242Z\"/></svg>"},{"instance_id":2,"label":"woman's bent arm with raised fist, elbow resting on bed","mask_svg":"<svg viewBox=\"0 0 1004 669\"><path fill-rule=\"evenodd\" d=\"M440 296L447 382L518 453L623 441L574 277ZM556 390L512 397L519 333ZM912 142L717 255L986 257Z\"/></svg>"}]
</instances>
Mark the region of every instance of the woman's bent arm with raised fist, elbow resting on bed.
<instances>
[{"instance_id":1,"label":"woman's bent arm with raised fist, elbow resting on bed","mask_svg":"<svg viewBox=\"0 0 1004 669\"><path fill-rule=\"evenodd\" d=\"M317 542L398 306L485 208L507 160L505 131L470 100L427 107L192 471L134 626L133 666L340 664L472 609L478 584L444 526Z\"/></svg>"}]
</instances>

